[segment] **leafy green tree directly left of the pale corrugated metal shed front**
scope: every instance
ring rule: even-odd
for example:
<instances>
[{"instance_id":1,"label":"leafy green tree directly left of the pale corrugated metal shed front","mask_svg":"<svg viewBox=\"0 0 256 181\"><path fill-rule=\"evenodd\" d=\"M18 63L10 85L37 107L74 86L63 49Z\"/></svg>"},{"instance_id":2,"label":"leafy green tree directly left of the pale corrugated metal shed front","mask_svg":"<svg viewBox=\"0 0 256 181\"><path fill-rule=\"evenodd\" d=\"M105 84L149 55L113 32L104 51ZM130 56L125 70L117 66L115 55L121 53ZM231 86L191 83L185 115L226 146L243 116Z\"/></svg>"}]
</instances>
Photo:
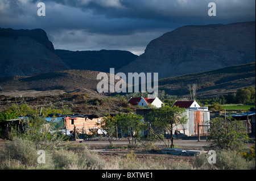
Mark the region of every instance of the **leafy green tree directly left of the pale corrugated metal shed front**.
<instances>
[{"instance_id":1,"label":"leafy green tree directly left of the pale corrugated metal shed front","mask_svg":"<svg viewBox=\"0 0 256 181\"><path fill-rule=\"evenodd\" d=\"M159 140L162 140L167 148L174 147L174 137L172 136L173 128L179 124L187 123L187 116L183 113L184 108L163 106L159 109L154 109L152 112L148 113L148 120L152 122L154 128L159 130L164 130L168 133L168 141L171 140L171 146L166 144L161 133L154 132L158 134Z\"/></svg>"}]
</instances>

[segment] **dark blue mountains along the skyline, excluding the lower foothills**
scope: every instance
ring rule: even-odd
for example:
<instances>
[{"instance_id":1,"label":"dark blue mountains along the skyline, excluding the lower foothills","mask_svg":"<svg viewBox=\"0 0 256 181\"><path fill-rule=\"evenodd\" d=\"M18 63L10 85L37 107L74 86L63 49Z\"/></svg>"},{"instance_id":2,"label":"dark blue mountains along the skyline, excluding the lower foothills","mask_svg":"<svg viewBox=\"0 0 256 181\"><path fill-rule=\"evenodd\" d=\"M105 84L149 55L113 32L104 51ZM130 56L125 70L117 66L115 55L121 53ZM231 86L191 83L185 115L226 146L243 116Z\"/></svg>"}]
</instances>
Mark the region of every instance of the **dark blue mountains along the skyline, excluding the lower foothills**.
<instances>
[{"instance_id":1,"label":"dark blue mountains along the skyline, excluding the lower foothills","mask_svg":"<svg viewBox=\"0 0 256 181\"><path fill-rule=\"evenodd\" d=\"M150 41L137 56L123 50L55 50L41 29L0 28L0 77L60 70L174 77L255 62L255 22L184 26Z\"/></svg>"}]
</instances>

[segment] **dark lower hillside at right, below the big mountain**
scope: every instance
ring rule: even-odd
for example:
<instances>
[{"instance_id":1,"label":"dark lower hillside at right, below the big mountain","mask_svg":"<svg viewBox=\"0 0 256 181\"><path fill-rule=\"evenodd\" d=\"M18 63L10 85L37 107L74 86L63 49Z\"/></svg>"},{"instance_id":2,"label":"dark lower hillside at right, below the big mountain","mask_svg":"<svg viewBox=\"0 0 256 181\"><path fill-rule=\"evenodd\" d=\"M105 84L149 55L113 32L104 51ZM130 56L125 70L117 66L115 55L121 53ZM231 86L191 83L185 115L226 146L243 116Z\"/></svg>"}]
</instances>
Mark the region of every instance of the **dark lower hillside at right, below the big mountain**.
<instances>
[{"instance_id":1,"label":"dark lower hillside at right, below the big mountain","mask_svg":"<svg viewBox=\"0 0 256 181\"><path fill-rule=\"evenodd\" d=\"M255 62L158 81L159 90L185 97L189 97L188 85L193 83L197 85L197 98L214 98L234 93L242 87L255 87Z\"/></svg>"}]
</instances>

